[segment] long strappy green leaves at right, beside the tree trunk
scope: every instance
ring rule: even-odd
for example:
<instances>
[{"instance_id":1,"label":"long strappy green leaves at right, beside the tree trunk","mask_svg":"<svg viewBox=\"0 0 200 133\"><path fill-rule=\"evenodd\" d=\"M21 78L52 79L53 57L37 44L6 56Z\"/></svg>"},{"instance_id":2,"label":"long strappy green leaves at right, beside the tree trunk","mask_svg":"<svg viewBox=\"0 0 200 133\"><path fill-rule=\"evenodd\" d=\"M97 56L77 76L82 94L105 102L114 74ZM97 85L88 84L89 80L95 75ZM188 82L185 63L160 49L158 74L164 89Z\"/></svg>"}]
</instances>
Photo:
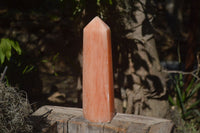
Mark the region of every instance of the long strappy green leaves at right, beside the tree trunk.
<instances>
[{"instance_id":1,"label":"long strappy green leaves at right, beside the tree trunk","mask_svg":"<svg viewBox=\"0 0 200 133\"><path fill-rule=\"evenodd\" d=\"M177 106L181 110L182 118L184 120L189 120L195 116L200 117L200 112L198 110L200 99L195 100L195 94L200 89L200 82L195 82L195 78L193 78L188 87L184 90L183 74L179 74L175 76L174 86L175 100L173 100L172 96L169 96L168 99L172 105Z\"/></svg>"}]
</instances>

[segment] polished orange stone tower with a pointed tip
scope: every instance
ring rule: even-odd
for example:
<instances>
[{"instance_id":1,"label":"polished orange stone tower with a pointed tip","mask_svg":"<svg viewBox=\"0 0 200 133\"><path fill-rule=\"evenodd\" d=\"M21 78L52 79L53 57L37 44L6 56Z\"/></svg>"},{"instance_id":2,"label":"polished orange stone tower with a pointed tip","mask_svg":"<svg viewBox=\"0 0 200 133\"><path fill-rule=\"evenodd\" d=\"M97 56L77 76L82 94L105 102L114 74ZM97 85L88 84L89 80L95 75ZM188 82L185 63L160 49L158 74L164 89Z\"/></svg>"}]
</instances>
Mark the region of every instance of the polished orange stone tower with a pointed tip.
<instances>
[{"instance_id":1,"label":"polished orange stone tower with a pointed tip","mask_svg":"<svg viewBox=\"0 0 200 133\"><path fill-rule=\"evenodd\" d=\"M83 31L83 114L91 122L109 122L115 114L110 34L99 17Z\"/></svg>"}]
</instances>

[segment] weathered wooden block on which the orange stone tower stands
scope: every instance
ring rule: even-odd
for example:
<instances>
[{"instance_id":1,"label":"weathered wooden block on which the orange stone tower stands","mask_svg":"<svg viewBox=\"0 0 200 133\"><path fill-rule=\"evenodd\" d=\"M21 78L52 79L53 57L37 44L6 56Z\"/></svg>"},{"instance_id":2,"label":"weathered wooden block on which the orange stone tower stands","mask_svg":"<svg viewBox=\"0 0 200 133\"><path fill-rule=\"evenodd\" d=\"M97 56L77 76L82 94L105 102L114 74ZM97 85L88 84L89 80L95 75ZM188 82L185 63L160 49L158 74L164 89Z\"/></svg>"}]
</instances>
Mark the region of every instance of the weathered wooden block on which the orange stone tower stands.
<instances>
[{"instance_id":1,"label":"weathered wooden block on which the orange stone tower stands","mask_svg":"<svg viewBox=\"0 0 200 133\"><path fill-rule=\"evenodd\" d=\"M82 109L43 106L33 113L41 116L48 111L50 124L42 130L46 133L171 133L170 120L117 113L111 122L94 123L83 117Z\"/></svg>"}]
</instances>

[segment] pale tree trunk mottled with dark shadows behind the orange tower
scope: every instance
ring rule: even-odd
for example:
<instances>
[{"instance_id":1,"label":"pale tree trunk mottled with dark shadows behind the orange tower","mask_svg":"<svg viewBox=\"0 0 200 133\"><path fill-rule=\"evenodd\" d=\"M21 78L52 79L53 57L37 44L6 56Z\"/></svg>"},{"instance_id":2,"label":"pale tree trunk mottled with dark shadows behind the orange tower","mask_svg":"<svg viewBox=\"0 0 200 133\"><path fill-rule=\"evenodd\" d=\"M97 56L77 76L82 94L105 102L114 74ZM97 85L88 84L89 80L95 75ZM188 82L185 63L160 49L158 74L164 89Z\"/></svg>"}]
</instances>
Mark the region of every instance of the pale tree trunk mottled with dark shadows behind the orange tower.
<instances>
[{"instance_id":1,"label":"pale tree trunk mottled with dark shadows behind the orange tower","mask_svg":"<svg viewBox=\"0 0 200 133\"><path fill-rule=\"evenodd\" d=\"M169 108L167 88L153 36L150 7L147 0L116 2L116 12L122 23L115 23L121 31L112 33L122 34L121 40L114 40L114 67L116 81L123 83L117 82L115 86L125 89L126 113L165 117Z\"/></svg>"}]
</instances>

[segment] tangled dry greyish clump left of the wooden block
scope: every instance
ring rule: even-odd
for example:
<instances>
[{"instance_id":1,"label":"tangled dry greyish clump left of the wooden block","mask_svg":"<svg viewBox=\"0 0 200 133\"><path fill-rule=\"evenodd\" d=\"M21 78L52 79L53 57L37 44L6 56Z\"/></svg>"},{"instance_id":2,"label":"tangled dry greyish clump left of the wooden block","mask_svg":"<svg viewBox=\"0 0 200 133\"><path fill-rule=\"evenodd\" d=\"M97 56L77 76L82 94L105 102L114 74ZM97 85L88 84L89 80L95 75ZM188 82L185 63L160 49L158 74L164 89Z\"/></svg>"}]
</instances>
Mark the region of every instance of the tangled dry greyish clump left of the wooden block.
<instances>
[{"instance_id":1,"label":"tangled dry greyish clump left of the wooden block","mask_svg":"<svg viewBox=\"0 0 200 133\"><path fill-rule=\"evenodd\" d=\"M32 112L26 93L0 83L0 132L30 133Z\"/></svg>"}]
</instances>

